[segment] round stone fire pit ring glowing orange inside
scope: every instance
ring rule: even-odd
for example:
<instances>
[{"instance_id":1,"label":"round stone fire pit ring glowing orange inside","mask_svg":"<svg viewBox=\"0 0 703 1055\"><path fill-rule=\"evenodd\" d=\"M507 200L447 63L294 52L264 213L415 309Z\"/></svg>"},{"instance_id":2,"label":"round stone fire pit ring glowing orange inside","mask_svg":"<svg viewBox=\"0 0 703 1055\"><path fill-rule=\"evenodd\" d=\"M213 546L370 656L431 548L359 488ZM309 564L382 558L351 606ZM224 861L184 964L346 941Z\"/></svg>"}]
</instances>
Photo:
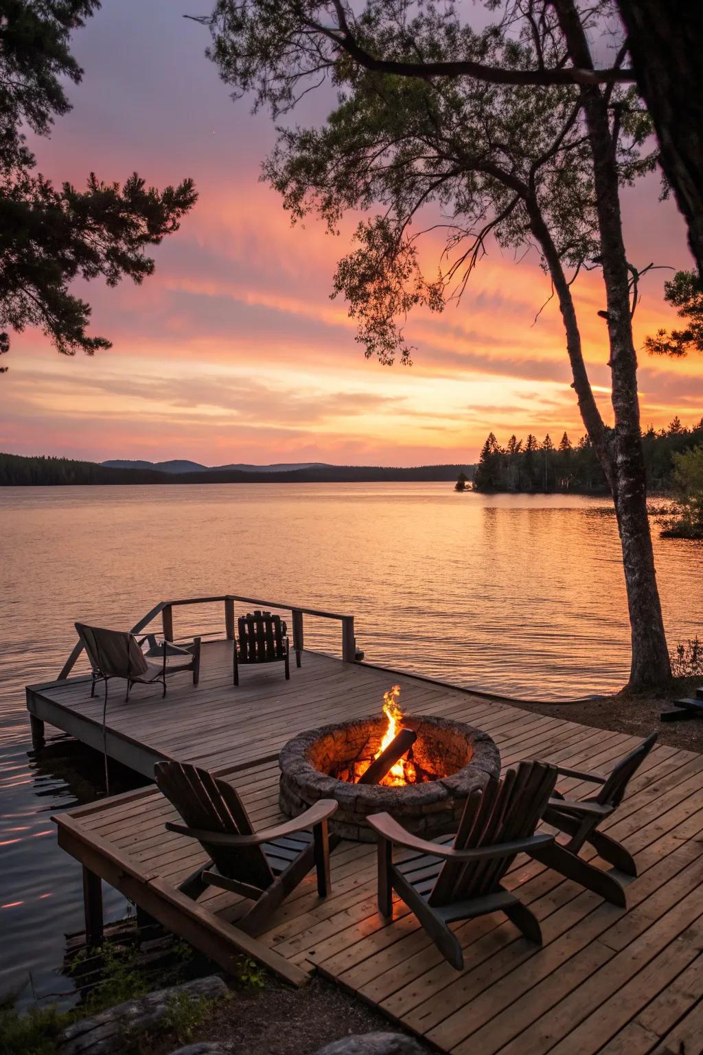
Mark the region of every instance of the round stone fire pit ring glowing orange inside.
<instances>
[{"instance_id":1,"label":"round stone fire pit ring glowing orange inside","mask_svg":"<svg viewBox=\"0 0 703 1055\"><path fill-rule=\"evenodd\" d=\"M299 733L286 744L278 759L282 812L297 817L318 799L335 799L339 806L330 830L364 842L375 840L366 818L384 810L415 835L452 831L464 800L500 775L499 750L488 733L451 718L404 715L403 726L417 733L412 759L423 783L352 783L357 767L378 751L387 727L385 716L354 718Z\"/></svg>"}]
</instances>

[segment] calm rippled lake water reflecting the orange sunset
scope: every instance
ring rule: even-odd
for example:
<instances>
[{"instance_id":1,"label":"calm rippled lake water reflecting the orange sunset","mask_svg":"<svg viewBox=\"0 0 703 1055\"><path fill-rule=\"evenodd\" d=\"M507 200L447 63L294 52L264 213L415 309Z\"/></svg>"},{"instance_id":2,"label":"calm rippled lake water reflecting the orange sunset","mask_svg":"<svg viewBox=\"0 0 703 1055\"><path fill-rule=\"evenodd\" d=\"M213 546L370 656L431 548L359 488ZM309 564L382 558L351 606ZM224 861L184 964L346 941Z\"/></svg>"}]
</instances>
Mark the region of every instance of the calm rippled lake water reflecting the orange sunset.
<instances>
[{"instance_id":1,"label":"calm rippled lake water reflecting the orange sunset","mask_svg":"<svg viewBox=\"0 0 703 1055\"><path fill-rule=\"evenodd\" d=\"M673 646L703 629L703 549L656 549ZM58 674L74 620L128 628L160 599L230 592L352 613L371 663L496 693L569 698L627 677L603 499L425 483L3 488L0 576L0 994L23 999L70 990L56 968L82 922L80 868L50 814L95 798L100 759L61 735L35 757L23 696ZM175 618L176 636L222 629L219 606ZM337 625L307 620L306 644L338 653Z\"/></svg>"}]
</instances>

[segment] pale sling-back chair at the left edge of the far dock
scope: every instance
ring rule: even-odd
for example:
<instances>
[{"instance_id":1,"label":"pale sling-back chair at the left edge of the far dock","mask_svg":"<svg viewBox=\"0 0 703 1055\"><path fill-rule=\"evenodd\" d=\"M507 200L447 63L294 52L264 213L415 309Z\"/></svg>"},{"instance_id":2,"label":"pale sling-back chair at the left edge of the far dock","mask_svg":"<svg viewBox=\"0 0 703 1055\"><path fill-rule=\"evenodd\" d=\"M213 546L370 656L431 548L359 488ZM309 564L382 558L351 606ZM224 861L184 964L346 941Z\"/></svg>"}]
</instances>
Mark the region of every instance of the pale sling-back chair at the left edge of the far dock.
<instances>
[{"instance_id":1,"label":"pale sling-back chair at the left edge of the far dock","mask_svg":"<svg viewBox=\"0 0 703 1055\"><path fill-rule=\"evenodd\" d=\"M125 701L130 698L132 686L137 683L152 685L158 682L163 687L161 696L165 696L167 675L175 674L177 671L192 670L193 685L198 684L200 676L199 637L196 637L193 645L188 648L180 648L173 641L157 641L153 634L147 634L138 640L134 634L122 630L104 630L101 627L89 627L84 622L76 622L75 627L91 663L91 695L95 695L96 683L104 682L105 704L108 682L113 677L121 677L126 682ZM141 646L144 641L149 641L150 645L147 655L158 656L161 659L158 666L149 663L142 652ZM187 657L187 659L167 666L169 656Z\"/></svg>"}]
</instances>

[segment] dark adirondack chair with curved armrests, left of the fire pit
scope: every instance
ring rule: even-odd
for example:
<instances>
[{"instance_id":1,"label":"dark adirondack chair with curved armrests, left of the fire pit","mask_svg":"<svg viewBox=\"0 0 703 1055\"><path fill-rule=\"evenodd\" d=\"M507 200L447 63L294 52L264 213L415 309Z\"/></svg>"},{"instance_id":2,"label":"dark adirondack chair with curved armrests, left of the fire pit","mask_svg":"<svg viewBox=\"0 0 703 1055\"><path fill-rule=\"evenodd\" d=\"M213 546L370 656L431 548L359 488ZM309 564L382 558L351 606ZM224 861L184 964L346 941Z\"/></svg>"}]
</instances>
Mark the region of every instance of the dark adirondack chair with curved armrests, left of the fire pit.
<instances>
[{"instance_id":1,"label":"dark adirondack chair with curved armrests, left of the fire pit","mask_svg":"<svg viewBox=\"0 0 703 1055\"><path fill-rule=\"evenodd\" d=\"M154 774L160 791L185 822L169 822L168 830L197 839L210 858L180 884L181 893L195 900L206 887L218 886L251 898L253 906L237 923L248 934L266 924L312 868L317 872L319 896L329 893L327 821L336 802L320 799L292 821L255 832L239 795L227 781L180 762L159 762Z\"/></svg>"}]
</instances>

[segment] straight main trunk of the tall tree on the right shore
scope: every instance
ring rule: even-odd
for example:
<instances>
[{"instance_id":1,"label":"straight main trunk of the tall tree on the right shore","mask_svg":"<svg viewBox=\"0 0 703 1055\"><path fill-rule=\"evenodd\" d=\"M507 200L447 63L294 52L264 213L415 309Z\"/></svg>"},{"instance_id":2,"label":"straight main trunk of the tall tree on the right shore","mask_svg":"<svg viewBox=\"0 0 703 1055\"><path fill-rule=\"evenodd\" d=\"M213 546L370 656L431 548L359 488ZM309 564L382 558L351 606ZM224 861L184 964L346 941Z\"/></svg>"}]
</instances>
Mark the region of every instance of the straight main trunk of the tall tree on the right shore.
<instances>
[{"instance_id":1,"label":"straight main trunk of the tall tree on the right shore","mask_svg":"<svg viewBox=\"0 0 703 1055\"><path fill-rule=\"evenodd\" d=\"M588 44L572 0L553 0L574 64L592 68ZM606 289L614 430L609 441L612 497L623 551L632 661L631 688L664 685L671 678L655 556L647 515L647 483L640 428L637 354L630 318L629 272L620 214L620 187L607 100L597 87L581 95L593 156L601 234L601 266ZM607 474L606 474L607 475Z\"/></svg>"}]
</instances>

